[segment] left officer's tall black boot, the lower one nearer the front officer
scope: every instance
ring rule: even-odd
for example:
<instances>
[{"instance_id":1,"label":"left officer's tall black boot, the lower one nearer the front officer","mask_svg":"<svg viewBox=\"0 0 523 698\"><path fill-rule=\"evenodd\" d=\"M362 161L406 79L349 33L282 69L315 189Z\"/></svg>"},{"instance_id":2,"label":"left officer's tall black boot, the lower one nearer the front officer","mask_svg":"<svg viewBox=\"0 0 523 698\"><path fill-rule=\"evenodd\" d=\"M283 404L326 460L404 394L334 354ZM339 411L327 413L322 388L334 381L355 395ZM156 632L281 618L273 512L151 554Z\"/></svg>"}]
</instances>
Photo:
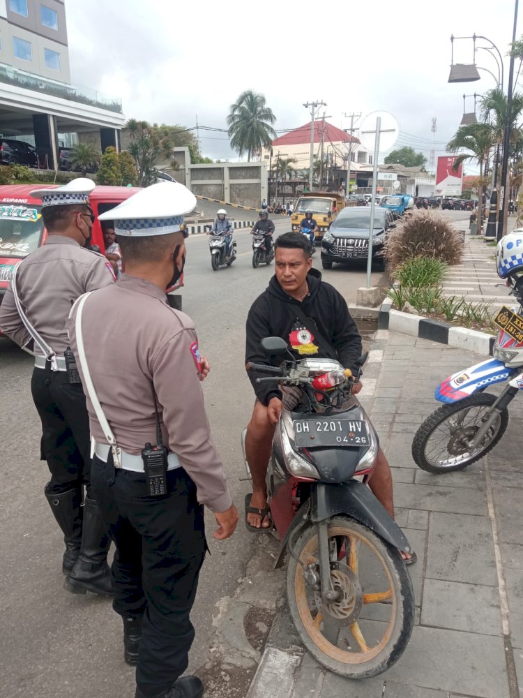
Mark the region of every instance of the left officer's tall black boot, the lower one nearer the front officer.
<instances>
[{"instance_id":1,"label":"left officer's tall black boot, the lower one nearer the front officer","mask_svg":"<svg viewBox=\"0 0 523 698\"><path fill-rule=\"evenodd\" d=\"M73 594L91 591L100 596L111 596L111 572L107 565L107 552L111 541L103 525L98 504L86 498L84 504L84 525L82 549L73 569L63 585Z\"/></svg>"}]
</instances>

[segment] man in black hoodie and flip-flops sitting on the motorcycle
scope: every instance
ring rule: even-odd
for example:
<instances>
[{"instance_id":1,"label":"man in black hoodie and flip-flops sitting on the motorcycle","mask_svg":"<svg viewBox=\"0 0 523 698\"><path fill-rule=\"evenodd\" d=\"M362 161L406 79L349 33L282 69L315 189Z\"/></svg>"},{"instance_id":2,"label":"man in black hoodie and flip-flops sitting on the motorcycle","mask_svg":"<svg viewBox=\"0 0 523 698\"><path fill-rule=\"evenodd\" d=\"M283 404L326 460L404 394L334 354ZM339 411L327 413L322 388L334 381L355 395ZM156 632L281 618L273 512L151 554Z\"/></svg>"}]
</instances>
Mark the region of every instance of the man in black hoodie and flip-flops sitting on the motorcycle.
<instances>
[{"instance_id":1,"label":"man in black hoodie and flip-flops sitting on the motorcycle","mask_svg":"<svg viewBox=\"0 0 523 698\"><path fill-rule=\"evenodd\" d=\"M305 356L337 359L356 373L356 362L361 356L360 333L344 297L329 283L321 281L320 272L312 268L308 239L299 232L280 235L275 242L275 265L275 276L248 314L245 362L270 364L260 342L264 337L280 336L289 343L296 359ZM314 332L303 332L295 306L300 306L317 328L316 337ZM319 341L321 335L322 341ZM324 341L328 346L322 348ZM256 402L245 437L245 454L252 474L252 497L245 510L245 523L249 530L262 533L271 527L265 481L275 426L282 413L283 394L274 383L256 383L258 377L256 373L249 373ZM352 393L360 392L361 387L360 381L353 386ZM394 518L391 468L381 447L369 486ZM416 554L404 557L407 564L416 561Z\"/></svg>"}]
</instances>

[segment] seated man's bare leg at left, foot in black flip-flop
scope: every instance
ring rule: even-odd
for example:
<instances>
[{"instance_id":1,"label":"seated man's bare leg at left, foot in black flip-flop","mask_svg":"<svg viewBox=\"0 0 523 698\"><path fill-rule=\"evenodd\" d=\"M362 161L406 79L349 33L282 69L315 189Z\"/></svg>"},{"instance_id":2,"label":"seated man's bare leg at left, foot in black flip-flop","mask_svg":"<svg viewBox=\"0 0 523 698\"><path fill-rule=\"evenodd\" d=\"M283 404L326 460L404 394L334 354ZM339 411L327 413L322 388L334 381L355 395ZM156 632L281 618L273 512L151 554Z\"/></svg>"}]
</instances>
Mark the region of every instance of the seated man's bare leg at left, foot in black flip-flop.
<instances>
[{"instance_id":1,"label":"seated man's bare leg at left, foot in black flip-flop","mask_svg":"<svg viewBox=\"0 0 523 698\"><path fill-rule=\"evenodd\" d=\"M250 505L255 509L265 509L267 506L266 476L274 429L274 424L269 422L267 408L257 401L245 436L245 455L252 475ZM271 525L268 517L261 521L259 514L247 514L247 521L256 528L268 528Z\"/></svg>"}]
</instances>

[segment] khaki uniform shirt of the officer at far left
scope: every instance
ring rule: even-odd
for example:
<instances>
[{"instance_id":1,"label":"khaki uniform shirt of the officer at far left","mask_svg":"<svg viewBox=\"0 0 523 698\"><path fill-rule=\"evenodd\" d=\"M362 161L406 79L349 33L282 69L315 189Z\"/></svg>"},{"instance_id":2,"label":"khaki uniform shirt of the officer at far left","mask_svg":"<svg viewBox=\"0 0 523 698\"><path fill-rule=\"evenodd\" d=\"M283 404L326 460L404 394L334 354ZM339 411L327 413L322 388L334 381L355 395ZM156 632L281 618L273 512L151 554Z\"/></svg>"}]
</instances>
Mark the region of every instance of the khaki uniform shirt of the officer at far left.
<instances>
[{"instance_id":1,"label":"khaki uniform shirt of the officer at far left","mask_svg":"<svg viewBox=\"0 0 523 698\"><path fill-rule=\"evenodd\" d=\"M16 275L18 297L29 322L59 355L68 348L66 322L75 300L96 288L114 284L112 268L102 255L63 235L47 242L22 261ZM19 346L31 341L9 287L0 306L0 329ZM41 355L35 345L35 353Z\"/></svg>"}]
</instances>

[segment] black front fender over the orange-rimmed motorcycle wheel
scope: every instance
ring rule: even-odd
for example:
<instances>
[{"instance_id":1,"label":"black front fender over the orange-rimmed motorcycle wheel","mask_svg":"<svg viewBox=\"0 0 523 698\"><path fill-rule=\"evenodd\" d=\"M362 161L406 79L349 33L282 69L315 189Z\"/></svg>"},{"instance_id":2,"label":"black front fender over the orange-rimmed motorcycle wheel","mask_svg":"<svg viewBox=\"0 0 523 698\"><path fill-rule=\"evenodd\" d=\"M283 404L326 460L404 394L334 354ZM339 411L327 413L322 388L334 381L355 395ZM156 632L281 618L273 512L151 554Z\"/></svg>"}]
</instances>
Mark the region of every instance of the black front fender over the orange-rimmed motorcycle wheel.
<instances>
[{"instance_id":1,"label":"black front fender over the orange-rimmed motorcycle wheel","mask_svg":"<svg viewBox=\"0 0 523 698\"><path fill-rule=\"evenodd\" d=\"M398 550L404 553L412 552L409 541L400 526L391 519L363 482L358 480L349 480L342 484L320 482L312 489L310 505L310 519L314 523L335 517L336 514L347 514Z\"/></svg>"}]
</instances>

